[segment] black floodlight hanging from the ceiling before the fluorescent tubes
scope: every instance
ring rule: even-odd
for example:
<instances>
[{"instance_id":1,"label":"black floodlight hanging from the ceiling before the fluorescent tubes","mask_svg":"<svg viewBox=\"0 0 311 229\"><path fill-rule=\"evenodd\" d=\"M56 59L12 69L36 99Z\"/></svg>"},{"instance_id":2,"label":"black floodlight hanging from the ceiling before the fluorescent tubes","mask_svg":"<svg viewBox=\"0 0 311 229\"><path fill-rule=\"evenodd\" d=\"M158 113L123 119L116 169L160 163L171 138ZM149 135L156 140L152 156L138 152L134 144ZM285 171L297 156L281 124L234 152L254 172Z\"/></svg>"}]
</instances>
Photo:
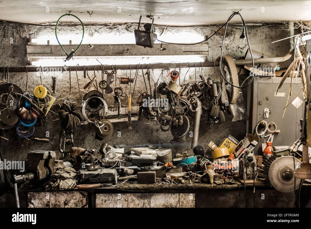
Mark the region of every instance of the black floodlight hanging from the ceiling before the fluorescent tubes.
<instances>
[{"instance_id":1,"label":"black floodlight hanging from the ceiling before the fluorescent tubes","mask_svg":"<svg viewBox=\"0 0 311 229\"><path fill-rule=\"evenodd\" d=\"M157 35L154 33L155 28L153 26L154 19L152 18L152 23L146 23L144 25L145 30L140 30L140 21L142 16L139 17L138 29L134 30L136 45L144 46L145 48L153 48L153 43L157 39Z\"/></svg>"}]
</instances>

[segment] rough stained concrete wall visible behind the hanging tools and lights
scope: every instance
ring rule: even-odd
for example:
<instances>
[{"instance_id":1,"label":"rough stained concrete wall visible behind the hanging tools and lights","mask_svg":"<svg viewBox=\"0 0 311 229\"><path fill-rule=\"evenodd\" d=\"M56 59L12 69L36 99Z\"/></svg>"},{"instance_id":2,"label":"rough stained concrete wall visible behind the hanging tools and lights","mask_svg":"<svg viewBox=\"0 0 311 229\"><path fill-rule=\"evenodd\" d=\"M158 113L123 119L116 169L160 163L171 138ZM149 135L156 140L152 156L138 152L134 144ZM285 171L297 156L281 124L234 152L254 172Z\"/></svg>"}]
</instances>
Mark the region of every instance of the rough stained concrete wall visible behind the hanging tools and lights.
<instances>
[{"instance_id":1,"label":"rough stained concrete wall visible behind the hanging tools and lights","mask_svg":"<svg viewBox=\"0 0 311 229\"><path fill-rule=\"evenodd\" d=\"M63 33L78 33L75 28L68 28L66 31L63 29ZM103 27L86 27L86 32L92 34L93 36L102 35L104 37L105 34L112 33L115 36L122 36L124 33L133 34L133 30L135 27L128 26L126 28L119 27L117 29L109 29ZM161 34L163 29L158 28L157 31ZM215 27L208 28L168 28L165 33L173 33L176 36L180 36L179 32L182 31L191 31L193 33L199 33L202 35L210 35L216 30ZM80 30L79 30L80 31ZM26 44L28 38L35 38L36 36L49 34L51 37L54 36L54 28L50 27L34 27L34 26L20 26L18 24L8 24L2 23L0 24L0 66L25 66L27 64L26 61ZM245 55L245 52L248 48L247 42L240 42L239 36L241 34L241 30L237 30L234 28L228 29L228 36L225 40L224 54L229 54L233 58L238 59L241 56ZM270 56L283 56L289 50L289 45L287 41L282 41L279 43L271 44L271 41L283 38L288 35L287 31L282 30L277 27L262 27L257 29L250 29L248 31L249 40L251 43L251 47L254 50L262 51ZM133 35L134 36L134 35ZM159 36L159 35L158 35ZM10 39L13 38L13 44L10 44ZM216 60L216 58L220 55L220 46L222 41L222 35L216 35L209 40L209 53L207 56L207 60ZM144 60L138 60L137 62L143 63ZM174 61L174 60L172 60ZM105 64L105 63L103 63ZM285 63L286 64L286 63ZM284 64L281 65L283 67ZM186 69L187 70L187 69ZM197 68L197 76L201 72L201 69ZM204 77L211 76L213 78L213 68L203 68ZM90 77L93 76L93 72L89 72ZM96 73L100 75L99 73ZM119 71L118 77L125 74L125 71ZM132 71L132 75L134 71ZM141 72L139 73L141 75ZM83 79L83 73L78 72L80 85L85 85L87 80ZM193 80L195 77L194 69L190 69L190 79ZM71 94L77 101L80 101L79 92L76 81L76 74L72 72L72 91ZM220 79L218 75L216 75L216 79ZM26 73L10 73L9 80L11 82L19 85L23 90L26 89ZM51 76L44 75L42 77L42 81L44 85L49 86L51 84ZM38 73L30 73L29 74L29 90L33 90L35 86L37 86L40 82L40 77ZM187 82L187 81L186 81ZM151 85L153 85L153 80L151 80ZM118 84L117 84L118 86ZM83 86L82 86L83 87ZM114 88L114 87L113 87ZM135 89L135 95L133 100L136 101L137 96L139 95L138 91L143 92L145 88L145 84L143 82L142 77L139 77L137 80L137 86ZM244 90L244 98L246 98L246 91ZM57 98L61 97L60 95L68 95L69 94L69 74L64 73L62 79L58 79L57 82L57 93L55 96ZM83 93L82 93L83 95ZM107 97L107 96L106 96ZM108 105L112 104L112 96L107 98ZM246 102L246 101L244 101ZM124 102L123 102L124 104ZM133 104L134 105L134 104ZM58 111L58 106L53 107L53 111ZM58 150L58 136L59 136L59 122L53 122L54 119L57 119L57 115L49 112L48 121L44 126L38 127L35 130L34 137L45 138L46 131L49 131L49 144L37 143L30 141L27 147L20 148L16 146L12 146L11 136L13 136L12 131L6 133L6 136L10 138L9 142L5 143L5 150L8 160L25 160L26 155L31 150ZM193 123L193 118L189 118L191 123ZM200 124L199 131L199 144L202 145L205 149L207 149L207 144L209 141L214 141L216 144L219 144L222 139L227 135L231 134L238 140L242 139L245 136L246 132L246 122L231 122L232 117L227 115L227 121L219 124L218 126L209 126L205 123L206 116L203 116ZM144 119L143 121L137 121L133 123L133 130L128 131L126 123L114 124L114 134L112 137L107 139L106 141L109 144L119 144L124 145L126 149L135 145L142 145L148 143L158 143L159 141L169 142L172 139L170 132L162 132L160 130L160 126L157 123L148 123L149 120ZM191 125L192 126L192 125ZM190 129L191 130L191 129ZM117 131L121 131L121 137L117 136ZM74 140L76 142L76 146L83 148L98 148L98 143L94 139L95 135L95 127L94 126L82 126L79 127L76 135L74 136ZM191 153L190 150L191 138L187 137L185 142L182 142L181 148L174 148L173 153L181 153L188 152Z\"/></svg>"}]
</instances>

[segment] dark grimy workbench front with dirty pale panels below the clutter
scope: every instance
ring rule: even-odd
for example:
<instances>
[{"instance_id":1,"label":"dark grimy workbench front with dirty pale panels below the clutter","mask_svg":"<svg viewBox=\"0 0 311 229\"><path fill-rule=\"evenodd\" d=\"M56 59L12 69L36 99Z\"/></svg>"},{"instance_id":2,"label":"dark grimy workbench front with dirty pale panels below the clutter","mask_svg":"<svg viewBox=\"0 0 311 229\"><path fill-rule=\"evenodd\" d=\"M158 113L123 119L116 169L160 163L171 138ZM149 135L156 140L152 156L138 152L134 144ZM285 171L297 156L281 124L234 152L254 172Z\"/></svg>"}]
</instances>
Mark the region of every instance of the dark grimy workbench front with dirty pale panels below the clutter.
<instances>
[{"instance_id":1,"label":"dark grimy workbench front with dirty pale panels below the clutter","mask_svg":"<svg viewBox=\"0 0 311 229\"><path fill-rule=\"evenodd\" d=\"M21 207L95 208L95 207L292 207L293 193L280 193L270 186L239 184L129 184L69 190L44 190L23 184L19 188ZM255 201L253 201L255 200Z\"/></svg>"}]
</instances>

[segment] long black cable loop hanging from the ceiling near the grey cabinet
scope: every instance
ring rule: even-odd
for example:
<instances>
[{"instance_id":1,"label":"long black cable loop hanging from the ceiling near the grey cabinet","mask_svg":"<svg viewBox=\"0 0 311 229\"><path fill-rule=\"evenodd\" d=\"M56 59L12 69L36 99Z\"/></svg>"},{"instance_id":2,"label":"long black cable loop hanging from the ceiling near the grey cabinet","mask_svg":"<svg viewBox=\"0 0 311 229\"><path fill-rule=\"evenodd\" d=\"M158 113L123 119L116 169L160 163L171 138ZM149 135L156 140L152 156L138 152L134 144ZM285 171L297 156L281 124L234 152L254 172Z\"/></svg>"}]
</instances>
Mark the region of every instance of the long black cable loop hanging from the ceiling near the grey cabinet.
<instances>
[{"instance_id":1,"label":"long black cable loop hanging from the ceiling near the grey cabinet","mask_svg":"<svg viewBox=\"0 0 311 229\"><path fill-rule=\"evenodd\" d=\"M248 33L247 33L247 28L246 28L246 24L244 22L244 19L242 17L242 15L239 13L239 12L233 12L230 17L228 18L227 22L225 23L225 33L224 33L224 36L222 38L222 44L221 44L221 53L220 53L220 60L219 60L219 69L220 69L220 75L221 77L227 82L229 83L231 86L233 87L236 87L236 88L246 88L249 84L252 83L253 79L254 79L254 73L250 73L250 75L248 77L246 77L246 79L244 79L244 81L241 83L241 86L236 86L234 85L233 83L230 83L225 77L224 75L222 74L222 69L221 69L221 62L222 62L222 52L223 52L223 46L224 46L224 42L225 42L225 36L226 36L226 31L227 31L227 26L228 26L228 22L232 19L232 17L234 17L234 15L238 14L240 17L241 17L241 20L242 20L242 24L243 24L243 27L245 29L245 33L246 33L246 40L247 40L247 44L248 44L248 49L249 49L249 52L251 54L251 57L252 57L252 63L253 63L253 71L255 69L255 63L254 63L254 58L253 58L253 53L252 53L252 49L249 45L249 41L248 41ZM241 37L244 37L244 30L242 32L242 35ZM249 78L251 77L251 80L248 82L248 84L246 84L245 86L242 86Z\"/></svg>"}]
</instances>

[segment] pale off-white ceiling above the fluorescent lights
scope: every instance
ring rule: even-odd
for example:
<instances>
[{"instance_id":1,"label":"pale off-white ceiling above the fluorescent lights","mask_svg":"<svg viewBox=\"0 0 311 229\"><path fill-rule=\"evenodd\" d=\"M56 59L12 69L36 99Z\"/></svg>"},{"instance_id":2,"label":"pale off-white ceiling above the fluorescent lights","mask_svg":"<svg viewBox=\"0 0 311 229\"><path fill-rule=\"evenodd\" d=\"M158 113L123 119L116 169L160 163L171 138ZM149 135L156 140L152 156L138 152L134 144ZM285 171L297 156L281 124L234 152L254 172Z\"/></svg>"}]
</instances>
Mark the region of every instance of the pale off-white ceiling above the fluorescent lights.
<instances>
[{"instance_id":1,"label":"pale off-white ceiling above the fluorescent lights","mask_svg":"<svg viewBox=\"0 0 311 229\"><path fill-rule=\"evenodd\" d=\"M140 15L151 14L156 24L200 25L224 23L232 11L238 10L246 22L311 20L311 1L0 0L0 20L23 23L57 21L71 11L86 22L138 22ZM87 11L93 13L89 15ZM150 20L144 18L142 22ZM239 16L234 16L231 22L240 22Z\"/></svg>"}]
</instances>

